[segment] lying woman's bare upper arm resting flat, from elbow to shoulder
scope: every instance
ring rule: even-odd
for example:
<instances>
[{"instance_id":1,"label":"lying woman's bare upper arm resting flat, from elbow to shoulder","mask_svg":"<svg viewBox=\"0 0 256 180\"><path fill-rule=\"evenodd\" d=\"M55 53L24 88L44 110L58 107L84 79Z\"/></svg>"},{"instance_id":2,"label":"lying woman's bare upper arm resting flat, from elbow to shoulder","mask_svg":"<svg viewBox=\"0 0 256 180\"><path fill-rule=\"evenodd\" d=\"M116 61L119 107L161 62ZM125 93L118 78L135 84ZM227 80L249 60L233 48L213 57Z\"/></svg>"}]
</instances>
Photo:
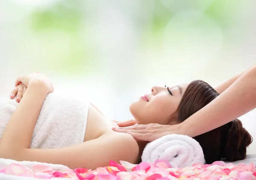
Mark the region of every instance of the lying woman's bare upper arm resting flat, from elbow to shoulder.
<instances>
[{"instance_id":1,"label":"lying woman's bare upper arm resting flat, from elbow to shoulder","mask_svg":"<svg viewBox=\"0 0 256 180\"><path fill-rule=\"evenodd\" d=\"M109 165L113 160L137 163L139 147L129 134L105 134L97 139L86 141L66 148L55 149L19 149L12 155L13 160L37 161L42 163L62 164L71 169L96 169Z\"/></svg>"}]
</instances>

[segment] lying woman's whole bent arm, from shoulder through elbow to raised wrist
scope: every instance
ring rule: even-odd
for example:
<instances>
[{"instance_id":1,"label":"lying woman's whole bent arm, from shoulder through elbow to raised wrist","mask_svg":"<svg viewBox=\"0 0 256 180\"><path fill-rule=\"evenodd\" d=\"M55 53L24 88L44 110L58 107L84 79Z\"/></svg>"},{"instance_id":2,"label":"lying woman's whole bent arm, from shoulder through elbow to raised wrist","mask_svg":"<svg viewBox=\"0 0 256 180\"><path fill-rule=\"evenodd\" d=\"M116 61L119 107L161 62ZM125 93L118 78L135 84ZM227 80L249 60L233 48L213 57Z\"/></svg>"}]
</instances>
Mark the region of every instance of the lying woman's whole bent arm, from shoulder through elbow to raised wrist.
<instances>
[{"instance_id":1,"label":"lying woman's whole bent arm, from shoulder through elbow to raised wrist","mask_svg":"<svg viewBox=\"0 0 256 180\"><path fill-rule=\"evenodd\" d=\"M67 148L30 149L35 123L47 93L49 93L49 88L44 84L28 85L26 93L12 114L0 139L1 158L89 169L109 165L109 160L136 163L139 148L136 140L129 134L105 134L97 139Z\"/></svg>"}]
</instances>

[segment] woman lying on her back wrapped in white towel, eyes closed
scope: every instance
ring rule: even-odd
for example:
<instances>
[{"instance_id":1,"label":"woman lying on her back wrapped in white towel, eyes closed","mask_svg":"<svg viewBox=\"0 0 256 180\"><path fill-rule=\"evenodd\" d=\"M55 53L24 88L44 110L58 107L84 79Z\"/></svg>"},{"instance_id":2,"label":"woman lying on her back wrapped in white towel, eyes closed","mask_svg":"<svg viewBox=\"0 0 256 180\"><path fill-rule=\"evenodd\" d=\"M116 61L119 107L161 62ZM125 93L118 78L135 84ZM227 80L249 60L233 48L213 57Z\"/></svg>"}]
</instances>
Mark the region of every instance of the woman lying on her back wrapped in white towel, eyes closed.
<instances>
[{"instance_id":1,"label":"woman lying on her back wrapped in white towel, eyes closed","mask_svg":"<svg viewBox=\"0 0 256 180\"><path fill-rule=\"evenodd\" d=\"M15 86L11 99L0 102L1 158L88 169L107 166L110 160L140 163L147 142L112 131L117 125L90 102L52 93L52 83L40 73L17 78ZM20 99L14 98L17 93ZM138 124L174 125L218 95L201 80L152 87L151 93L130 105L130 112ZM194 139L203 148L206 163L243 160L252 142L238 119Z\"/></svg>"}]
</instances>

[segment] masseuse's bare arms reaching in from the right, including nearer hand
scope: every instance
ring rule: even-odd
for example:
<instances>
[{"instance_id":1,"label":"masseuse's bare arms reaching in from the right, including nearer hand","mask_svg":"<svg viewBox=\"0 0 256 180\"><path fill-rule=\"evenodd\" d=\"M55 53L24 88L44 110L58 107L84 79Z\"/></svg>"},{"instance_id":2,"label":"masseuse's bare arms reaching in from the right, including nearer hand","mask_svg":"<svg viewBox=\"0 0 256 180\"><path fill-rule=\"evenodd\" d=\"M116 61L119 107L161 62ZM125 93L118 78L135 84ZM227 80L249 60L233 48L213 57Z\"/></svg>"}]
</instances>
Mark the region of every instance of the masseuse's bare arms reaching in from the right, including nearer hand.
<instances>
[{"instance_id":1,"label":"masseuse's bare arms reaching in from the right, including nearer hand","mask_svg":"<svg viewBox=\"0 0 256 180\"><path fill-rule=\"evenodd\" d=\"M220 95L207 106L177 125L132 125L113 127L135 139L154 141L168 134L198 136L218 128L256 108L256 65L224 82L215 90Z\"/></svg>"}]
</instances>

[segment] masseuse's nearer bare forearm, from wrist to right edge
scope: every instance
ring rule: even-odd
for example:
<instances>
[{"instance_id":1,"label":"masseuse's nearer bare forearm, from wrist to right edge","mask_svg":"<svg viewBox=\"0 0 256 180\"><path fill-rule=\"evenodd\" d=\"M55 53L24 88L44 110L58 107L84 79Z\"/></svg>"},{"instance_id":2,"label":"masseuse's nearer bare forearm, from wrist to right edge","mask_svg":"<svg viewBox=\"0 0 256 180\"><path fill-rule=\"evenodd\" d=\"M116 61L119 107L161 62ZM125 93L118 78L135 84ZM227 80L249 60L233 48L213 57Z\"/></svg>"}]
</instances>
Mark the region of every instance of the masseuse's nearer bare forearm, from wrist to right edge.
<instances>
[{"instance_id":1,"label":"masseuse's nearer bare forearm, from wrist to right edge","mask_svg":"<svg viewBox=\"0 0 256 180\"><path fill-rule=\"evenodd\" d=\"M207 106L179 124L180 134L191 137L218 128L256 108L256 65L241 75Z\"/></svg>"}]
</instances>

